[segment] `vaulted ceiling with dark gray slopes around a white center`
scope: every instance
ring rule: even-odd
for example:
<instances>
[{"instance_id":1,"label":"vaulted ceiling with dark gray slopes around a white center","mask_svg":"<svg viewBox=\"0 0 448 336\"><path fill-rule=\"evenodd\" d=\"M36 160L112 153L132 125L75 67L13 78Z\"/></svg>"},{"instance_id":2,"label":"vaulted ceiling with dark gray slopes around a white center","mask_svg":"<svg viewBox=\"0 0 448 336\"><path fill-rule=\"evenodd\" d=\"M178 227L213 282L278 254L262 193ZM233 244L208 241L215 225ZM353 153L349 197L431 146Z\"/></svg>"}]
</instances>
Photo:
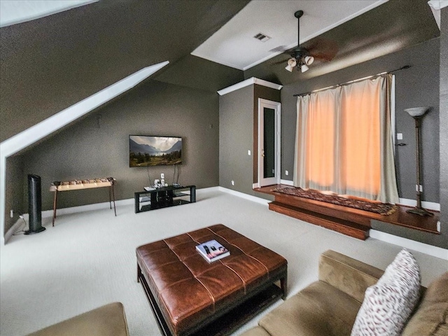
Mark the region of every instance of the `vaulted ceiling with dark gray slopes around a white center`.
<instances>
[{"instance_id":1,"label":"vaulted ceiling with dark gray slopes around a white center","mask_svg":"<svg viewBox=\"0 0 448 336\"><path fill-rule=\"evenodd\" d=\"M216 92L251 76L286 85L386 55L440 34L426 0L412 0L412 6L408 0L390 0L379 6L378 1L368 0L365 2L372 7L367 12L355 10L358 16L342 25L328 24L326 29L332 27L328 31L320 28L325 32L319 38L333 41L338 52L332 62L314 62L306 73L285 71L286 64L278 62L286 60L287 55L268 59L270 55L266 56L264 51L260 59L267 60L250 68L243 66L243 71L241 67L222 65L226 64L225 60L214 59L222 64L211 62L197 52L209 38L221 36L221 27L225 29L230 25L232 28L232 20L251 22L253 17L262 16L259 10L269 12L280 8L279 2L282 6L288 5L283 9L285 13L277 13L272 18L290 22L290 31L284 27L276 31L272 22L256 27L259 32L271 34L273 39L279 38L274 40L275 46L287 45L297 38L295 10L304 8L302 24L313 26L315 17L326 13L322 6L329 6L331 12L336 11L337 3L351 3L330 0L254 0L252 3L249 0L100 0L1 27L0 141L145 66L167 60L169 65L151 79ZM359 2L362 1L356 1ZM316 11L316 6L322 10ZM253 29L252 25L247 25L247 34ZM285 36L285 29L288 36ZM312 29L307 29L309 27L303 29L306 36L301 34L302 41L319 31L316 28L313 33ZM230 39L231 34L223 34L218 40L220 48L226 49ZM311 38L304 45L315 41ZM214 48L212 45L211 51ZM248 53L253 49L250 44L247 48ZM225 52L229 50L231 56L244 52L235 46L228 46Z\"/></svg>"}]
</instances>

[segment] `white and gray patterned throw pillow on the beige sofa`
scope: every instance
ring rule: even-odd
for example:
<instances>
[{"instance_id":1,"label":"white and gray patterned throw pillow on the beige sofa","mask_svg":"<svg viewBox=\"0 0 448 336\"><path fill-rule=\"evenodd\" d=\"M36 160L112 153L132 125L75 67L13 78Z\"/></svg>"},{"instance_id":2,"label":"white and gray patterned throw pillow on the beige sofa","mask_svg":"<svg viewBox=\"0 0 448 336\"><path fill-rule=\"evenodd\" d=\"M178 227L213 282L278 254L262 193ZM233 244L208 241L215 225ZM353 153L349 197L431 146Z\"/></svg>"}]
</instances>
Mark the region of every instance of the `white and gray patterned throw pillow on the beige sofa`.
<instances>
[{"instance_id":1,"label":"white and gray patterned throw pillow on the beige sofa","mask_svg":"<svg viewBox=\"0 0 448 336\"><path fill-rule=\"evenodd\" d=\"M365 291L351 336L400 335L420 296L420 269L405 248Z\"/></svg>"}]
</instances>

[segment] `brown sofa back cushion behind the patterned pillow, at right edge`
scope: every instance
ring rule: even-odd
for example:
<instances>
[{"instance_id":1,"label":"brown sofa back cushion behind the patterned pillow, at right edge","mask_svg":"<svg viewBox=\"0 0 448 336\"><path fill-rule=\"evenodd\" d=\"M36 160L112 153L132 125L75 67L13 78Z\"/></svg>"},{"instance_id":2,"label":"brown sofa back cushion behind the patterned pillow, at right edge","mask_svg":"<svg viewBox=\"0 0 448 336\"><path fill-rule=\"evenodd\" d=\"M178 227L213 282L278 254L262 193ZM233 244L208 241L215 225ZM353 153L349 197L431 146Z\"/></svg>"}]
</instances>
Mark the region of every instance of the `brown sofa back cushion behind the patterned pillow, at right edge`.
<instances>
[{"instance_id":1,"label":"brown sofa back cushion behind the patterned pillow, at right edge","mask_svg":"<svg viewBox=\"0 0 448 336\"><path fill-rule=\"evenodd\" d=\"M448 335L448 272L426 290L402 336Z\"/></svg>"}]
</instances>

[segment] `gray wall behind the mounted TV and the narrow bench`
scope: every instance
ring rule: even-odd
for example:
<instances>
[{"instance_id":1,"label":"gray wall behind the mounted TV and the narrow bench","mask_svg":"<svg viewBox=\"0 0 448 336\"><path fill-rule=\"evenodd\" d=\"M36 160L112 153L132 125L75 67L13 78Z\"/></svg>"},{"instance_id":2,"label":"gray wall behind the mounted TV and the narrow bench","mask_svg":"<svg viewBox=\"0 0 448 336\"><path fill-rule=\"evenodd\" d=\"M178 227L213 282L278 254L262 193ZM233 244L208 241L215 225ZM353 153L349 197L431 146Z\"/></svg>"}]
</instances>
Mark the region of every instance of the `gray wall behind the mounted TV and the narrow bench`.
<instances>
[{"instance_id":1,"label":"gray wall behind the mounted TV and the narrow bench","mask_svg":"<svg viewBox=\"0 0 448 336\"><path fill-rule=\"evenodd\" d=\"M23 167L15 165L15 169L23 170L22 181L27 174L41 176L43 210L52 209L53 193L48 191L52 181L113 176L118 181L116 199L130 199L135 191L148 186L148 174L153 181L163 172L172 183L174 167L130 168L129 134L179 136L183 138L179 183L198 188L217 186L218 130L216 92L150 80L20 153ZM22 190L22 211L26 212L27 190L12 186L13 181L8 188ZM108 200L106 188L72 191L59 195L58 208Z\"/></svg>"}]
</instances>

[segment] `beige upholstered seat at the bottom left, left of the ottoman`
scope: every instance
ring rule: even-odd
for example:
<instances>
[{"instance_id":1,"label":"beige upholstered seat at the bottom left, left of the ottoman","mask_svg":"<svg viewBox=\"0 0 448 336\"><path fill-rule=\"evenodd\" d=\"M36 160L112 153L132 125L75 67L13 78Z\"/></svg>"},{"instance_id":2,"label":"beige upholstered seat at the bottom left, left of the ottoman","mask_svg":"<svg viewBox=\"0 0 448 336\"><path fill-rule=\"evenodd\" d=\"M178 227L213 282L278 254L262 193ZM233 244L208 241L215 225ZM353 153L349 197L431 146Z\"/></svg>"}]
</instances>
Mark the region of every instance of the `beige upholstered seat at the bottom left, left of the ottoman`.
<instances>
[{"instance_id":1,"label":"beige upholstered seat at the bottom left, left of the ottoman","mask_svg":"<svg viewBox=\"0 0 448 336\"><path fill-rule=\"evenodd\" d=\"M29 334L29 336L61 335L128 336L125 308L121 302L109 303Z\"/></svg>"}]
</instances>

